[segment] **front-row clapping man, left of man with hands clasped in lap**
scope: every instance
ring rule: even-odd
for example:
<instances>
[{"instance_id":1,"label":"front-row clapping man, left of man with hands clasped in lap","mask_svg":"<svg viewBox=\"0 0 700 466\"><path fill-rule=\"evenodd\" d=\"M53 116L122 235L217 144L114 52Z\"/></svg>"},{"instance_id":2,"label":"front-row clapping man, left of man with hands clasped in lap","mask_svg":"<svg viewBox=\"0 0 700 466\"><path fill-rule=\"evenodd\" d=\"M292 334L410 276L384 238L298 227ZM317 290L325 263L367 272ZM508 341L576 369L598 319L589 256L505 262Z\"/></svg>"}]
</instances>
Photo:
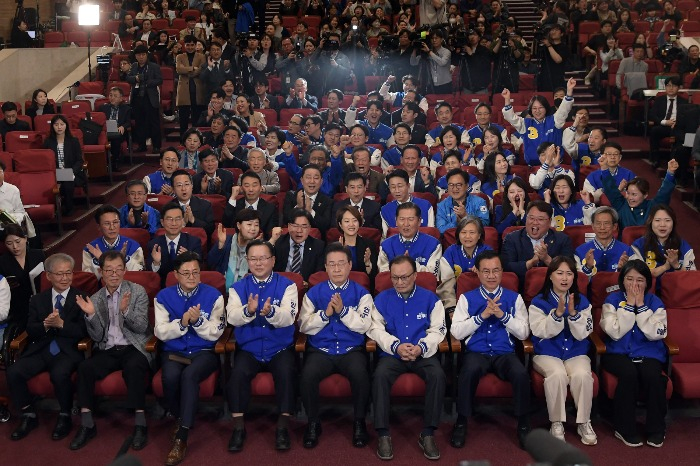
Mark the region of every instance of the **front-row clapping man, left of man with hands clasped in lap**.
<instances>
[{"instance_id":1,"label":"front-row clapping man, left of man with hands clasped in lap","mask_svg":"<svg viewBox=\"0 0 700 466\"><path fill-rule=\"evenodd\" d=\"M332 243L326 248L328 281L312 287L304 296L299 331L308 335L301 372L301 400L309 417L304 448L313 448L321 435L319 384L331 374L350 381L354 408L352 444L367 445L365 424L370 377L365 353L365 333L374 308L369 290L349 279L353 255L348 246Z\"/></svg>"}]
</instances>

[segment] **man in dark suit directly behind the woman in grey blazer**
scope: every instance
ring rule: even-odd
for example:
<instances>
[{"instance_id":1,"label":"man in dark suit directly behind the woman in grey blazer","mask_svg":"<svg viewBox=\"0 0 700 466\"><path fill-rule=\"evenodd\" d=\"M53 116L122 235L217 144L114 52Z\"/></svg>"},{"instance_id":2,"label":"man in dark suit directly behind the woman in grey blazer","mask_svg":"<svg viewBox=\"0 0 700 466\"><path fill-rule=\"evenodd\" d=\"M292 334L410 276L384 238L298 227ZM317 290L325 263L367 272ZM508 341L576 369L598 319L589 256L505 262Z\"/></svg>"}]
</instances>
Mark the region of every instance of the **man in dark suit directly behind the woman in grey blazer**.
<instances>
[{"instance_id":1,"label":"man in dark suit directly behind the woman in grey blazer","mask_svg":"<svg viewBox=\"0 0 700 466\"><path fill-rule=\"evenodd\" d=\"M238 199L238 195L243 193L243 198ZM231 197L224 208L224 218L222 223L226 228L236 226L236 216L243 209L256 210L260 217L260 231L266 239L270 238L272 229L279 223L277 208L260 198L262 193L262 183L257 173L247 171L240 178L240 186L234 186L231 190Z\"/></svg>"}]
</instances>

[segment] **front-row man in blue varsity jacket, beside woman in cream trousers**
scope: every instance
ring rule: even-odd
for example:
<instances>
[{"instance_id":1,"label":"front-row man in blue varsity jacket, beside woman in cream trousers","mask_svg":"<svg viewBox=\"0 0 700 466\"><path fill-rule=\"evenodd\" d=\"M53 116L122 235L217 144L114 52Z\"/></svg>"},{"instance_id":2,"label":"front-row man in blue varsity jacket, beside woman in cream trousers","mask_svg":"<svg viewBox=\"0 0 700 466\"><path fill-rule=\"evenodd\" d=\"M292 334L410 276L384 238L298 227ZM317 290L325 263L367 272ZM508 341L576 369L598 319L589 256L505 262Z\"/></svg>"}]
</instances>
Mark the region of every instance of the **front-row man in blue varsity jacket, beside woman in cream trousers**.
<instances>
[{"instance_id":1,"label":"front-row man in blue varsity jacket, beside woman in cream trousers","mask_svg":"<svg viewBox=\"0 0 700 466\"><path fill-rule=\"evenodd\" d=\"M515 353L513 337L530 335L527 308L517 291L501 287L503 263L496 251L484 251L474 262L481 286L459 297L450 332L463 342L457 384L457 421L450 444L462 448L479 380L489 372L513 386L518 440L524 447L530 432L530 377Z\"/></svg>"}]
</instances>

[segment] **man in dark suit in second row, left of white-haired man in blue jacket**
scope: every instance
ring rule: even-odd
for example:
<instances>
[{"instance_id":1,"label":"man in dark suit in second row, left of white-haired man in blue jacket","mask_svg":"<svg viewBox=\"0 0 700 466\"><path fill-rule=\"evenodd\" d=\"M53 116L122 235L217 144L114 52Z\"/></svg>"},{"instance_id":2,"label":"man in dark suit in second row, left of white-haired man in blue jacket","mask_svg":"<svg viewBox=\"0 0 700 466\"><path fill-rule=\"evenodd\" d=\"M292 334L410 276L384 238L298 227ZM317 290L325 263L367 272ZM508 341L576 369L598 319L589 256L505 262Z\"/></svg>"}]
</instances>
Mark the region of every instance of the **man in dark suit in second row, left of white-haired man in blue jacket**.
<instances>
[{"instance_id":1,"label":"man in dark suit in second row, left of white-haired man in blue jacket","mask_svg":"<svg viewBox=\"0 0 700 466\"><path fill-rule=\"evenodd\" d=\"M507 272L515 272L521 289L525 284L525 274L532 267L547 267L557 256L574 257L571 239L550 229L552 214L552 206L546 202L531 202L525 214L525 228L503 239L503 266Z\"/></svg>"}]
</instances>

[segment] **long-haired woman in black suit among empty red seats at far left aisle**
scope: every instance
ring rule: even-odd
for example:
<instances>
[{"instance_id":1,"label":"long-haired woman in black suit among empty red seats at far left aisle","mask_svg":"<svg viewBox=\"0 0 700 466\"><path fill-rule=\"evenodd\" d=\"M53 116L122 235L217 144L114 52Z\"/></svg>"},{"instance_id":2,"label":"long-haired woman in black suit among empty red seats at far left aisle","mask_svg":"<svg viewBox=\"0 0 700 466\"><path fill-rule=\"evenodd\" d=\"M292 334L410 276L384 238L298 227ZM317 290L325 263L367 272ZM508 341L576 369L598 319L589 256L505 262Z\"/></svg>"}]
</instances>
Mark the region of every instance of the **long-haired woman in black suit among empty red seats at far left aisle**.
<instances>
[{"instance_id":1,"label":"long-haired woman in black suit among empty red seats at far left aisle","mask_svg":"<svg viewBox=\"0 0 700 466\"><path fill-rule=\"evenodd\" d=\"M73 213L73 191L75 186L85 185L83 172L83 150L80 141L70 132L68 119L64 115L56 115L51 119L51 131L44 141L44 149L51 149L56 155L56 168L72 168L73 181L61 181L61 196L63 196L63 214Z\"/></svg>"}]
</instances>

